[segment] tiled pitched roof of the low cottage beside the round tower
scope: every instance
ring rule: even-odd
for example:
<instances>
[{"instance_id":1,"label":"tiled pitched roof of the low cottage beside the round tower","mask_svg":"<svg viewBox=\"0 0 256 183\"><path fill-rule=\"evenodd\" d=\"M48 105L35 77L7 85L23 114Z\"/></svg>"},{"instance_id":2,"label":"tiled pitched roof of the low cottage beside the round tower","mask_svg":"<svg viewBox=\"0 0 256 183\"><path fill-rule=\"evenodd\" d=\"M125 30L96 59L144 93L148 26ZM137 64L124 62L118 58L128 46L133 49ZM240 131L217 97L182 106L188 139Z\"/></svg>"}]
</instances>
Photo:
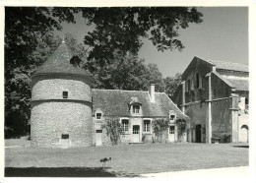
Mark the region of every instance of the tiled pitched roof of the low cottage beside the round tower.
<instances>
[{"instance_id":1,"label":"tiled pitched roof of the low cottage beside the round tower","mask_svg":"<svg viewBox=\"0 0 256 183\"><path fill-rule=\"evenodd\" d=\"M130 116L129 103L132 97L137 97L143 104L144 117L167 117L169 110L174 110L178 119L187 120L179 108L164 92L156 92L156 102L151 102L148 91L92 90L94 112L100 108L104 115Z\"/></svg>"}]
</instances>

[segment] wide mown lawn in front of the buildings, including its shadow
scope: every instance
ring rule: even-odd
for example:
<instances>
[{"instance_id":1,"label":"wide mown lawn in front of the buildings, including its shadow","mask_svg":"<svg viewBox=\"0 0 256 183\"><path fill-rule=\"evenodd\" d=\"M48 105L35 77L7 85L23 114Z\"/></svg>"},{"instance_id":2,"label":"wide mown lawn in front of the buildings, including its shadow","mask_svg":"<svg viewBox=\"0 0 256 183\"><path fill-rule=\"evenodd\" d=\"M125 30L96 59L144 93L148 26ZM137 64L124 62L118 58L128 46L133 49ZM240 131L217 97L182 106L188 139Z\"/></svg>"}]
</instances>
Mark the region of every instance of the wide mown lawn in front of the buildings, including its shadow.
<instances>
[{"instance_id":1,"label":"wide mown lawn in front of the buildings, including its shadow","mask_svg":"<svg viewBox=\"0 0 256 183\"><path fill-rule=\"evenodd\" d=\"M248 152L244 144L141 144L67 150L21 147L5 149L5 166L6 176L43 176L40 172L44 172L45 176L134 177L142 173L247 166ZM103 157L112 158L106 162L106 170L99 162Z\"/></svg>"}]
</instances>

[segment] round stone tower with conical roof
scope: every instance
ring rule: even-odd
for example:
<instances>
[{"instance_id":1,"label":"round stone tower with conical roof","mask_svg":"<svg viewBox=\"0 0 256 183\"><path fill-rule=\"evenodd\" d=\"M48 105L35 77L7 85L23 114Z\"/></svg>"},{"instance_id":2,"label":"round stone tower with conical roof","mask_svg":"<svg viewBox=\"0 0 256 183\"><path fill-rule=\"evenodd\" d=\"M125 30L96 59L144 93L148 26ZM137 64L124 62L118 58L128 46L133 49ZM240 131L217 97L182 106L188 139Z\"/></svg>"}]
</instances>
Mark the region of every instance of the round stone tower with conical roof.
<instances>
[{"instance_id":1,"label":"round stone tower with conical roof","mask_svg":"<svg viewBox=\"0 0 256 183\"><path fill-rule=\"evenodd\" d=\"M32 147L92 146L92 81L73 58L62 41L32 73Z\"/></svg>"}]
</instances>

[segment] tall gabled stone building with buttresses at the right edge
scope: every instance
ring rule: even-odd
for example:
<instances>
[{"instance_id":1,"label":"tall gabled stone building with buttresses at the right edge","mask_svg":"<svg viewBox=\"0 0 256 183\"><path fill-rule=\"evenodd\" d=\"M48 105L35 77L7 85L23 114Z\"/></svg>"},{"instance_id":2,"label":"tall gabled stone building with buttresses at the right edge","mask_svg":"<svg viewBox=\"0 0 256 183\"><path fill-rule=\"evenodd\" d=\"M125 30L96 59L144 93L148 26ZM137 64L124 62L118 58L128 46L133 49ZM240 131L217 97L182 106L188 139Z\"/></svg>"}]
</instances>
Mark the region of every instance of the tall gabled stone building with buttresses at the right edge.
<instances>
[{"instance_id":1,"label":"tall gabled stone building with buttresses at the right edge","mask_svg":"<svg viewBox=\"0 0 256 183\"><path fill-rule=\"evenodd\" d=\"M188 142L248 142L248 65L194 57L172 100L190 117Z\"/></svg>"}]
</instances>

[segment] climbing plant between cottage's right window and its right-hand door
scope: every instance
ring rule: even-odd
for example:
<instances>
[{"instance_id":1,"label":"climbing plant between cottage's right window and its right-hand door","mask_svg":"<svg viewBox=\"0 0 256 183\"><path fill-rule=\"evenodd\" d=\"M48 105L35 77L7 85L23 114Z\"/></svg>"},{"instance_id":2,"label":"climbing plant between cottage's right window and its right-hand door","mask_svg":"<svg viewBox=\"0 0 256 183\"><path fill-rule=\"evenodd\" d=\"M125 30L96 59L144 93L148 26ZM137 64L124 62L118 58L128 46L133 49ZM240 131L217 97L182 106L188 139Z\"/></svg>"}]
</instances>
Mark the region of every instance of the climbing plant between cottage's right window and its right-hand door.
<instances>
[{"instance_id":1,"label":"climbing plant between cottage's right window and its right-hand door","mask_svg":"<svg viewBox=\"0 0 256 183\"><path fill-rule=\"evenodd\" d=\"M152 128L153 132L155 134L155 138L153 139L153 142L161 143L162 139L164 139L165 143L168 137L168 120L167 119L155 119L152 122Z\"/></svg>"}]
</instances>

